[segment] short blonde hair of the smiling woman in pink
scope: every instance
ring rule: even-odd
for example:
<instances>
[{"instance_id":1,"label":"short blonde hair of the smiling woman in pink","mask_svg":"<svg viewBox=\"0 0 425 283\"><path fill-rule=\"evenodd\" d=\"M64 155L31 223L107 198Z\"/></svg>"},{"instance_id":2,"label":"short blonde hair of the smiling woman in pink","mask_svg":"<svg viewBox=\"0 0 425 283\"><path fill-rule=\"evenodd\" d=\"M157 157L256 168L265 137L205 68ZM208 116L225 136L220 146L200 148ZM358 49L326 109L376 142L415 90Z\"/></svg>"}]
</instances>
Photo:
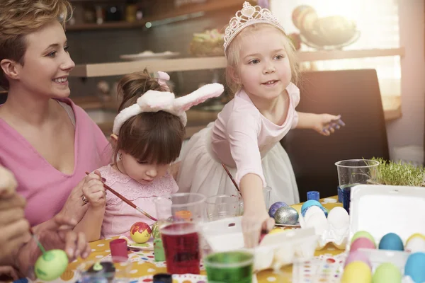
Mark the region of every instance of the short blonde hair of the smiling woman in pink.
<instances>
[{"instance_id":1,"label":"short blonde hair of the smiling woman in pink","mask_svg":"<svg viewBox=\"0 0 425 283\"><path fill-rule=\"evenodd\" d=\"M52 21L64 27L72 16L67 0L2 0L0 5L0 62L11 59L23 65L26 35ZM8 89L8 80L0 68L0 86Z\"/></svg>"}]
</instances>

